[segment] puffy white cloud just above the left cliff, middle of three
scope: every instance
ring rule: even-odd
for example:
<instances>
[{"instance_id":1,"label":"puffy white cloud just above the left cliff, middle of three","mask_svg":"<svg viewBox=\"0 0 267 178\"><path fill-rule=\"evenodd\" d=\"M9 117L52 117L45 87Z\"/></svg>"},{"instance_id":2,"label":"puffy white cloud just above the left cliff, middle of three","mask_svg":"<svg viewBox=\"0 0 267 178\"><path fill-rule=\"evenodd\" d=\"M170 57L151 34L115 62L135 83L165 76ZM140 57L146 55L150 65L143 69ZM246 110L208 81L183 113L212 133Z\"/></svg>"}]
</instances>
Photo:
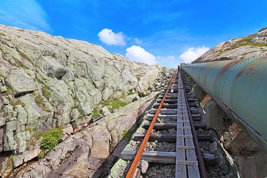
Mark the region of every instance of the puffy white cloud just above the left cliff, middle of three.
<instances>
[{"instance_id":1,"label":"puffy white cloud just above the left cliff, middle of three","mask_svg":"<svg viewBox=\"0 0 267 178\"><path fill-rule=\"evenodd\" d=\"M126 49L125 56L132 61L143 62L149 65L158 63L158 61L156 60L156 57L153 54L147 52L140 46L133 45L131 47L128 47Z\"/></svg>"}]
</instances>

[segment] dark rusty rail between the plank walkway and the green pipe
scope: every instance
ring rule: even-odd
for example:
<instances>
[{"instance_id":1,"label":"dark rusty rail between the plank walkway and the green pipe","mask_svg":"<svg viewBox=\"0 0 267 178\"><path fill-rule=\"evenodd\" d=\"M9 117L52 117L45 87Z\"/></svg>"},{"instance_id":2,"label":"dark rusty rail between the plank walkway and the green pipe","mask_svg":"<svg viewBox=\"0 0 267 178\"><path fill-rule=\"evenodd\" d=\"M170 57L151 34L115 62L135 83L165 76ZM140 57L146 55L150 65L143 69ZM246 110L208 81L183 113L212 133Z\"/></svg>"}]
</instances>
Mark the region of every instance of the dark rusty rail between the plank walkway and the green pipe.
<instances>
[{"instance_id":1,"label":"dark rusty rail between the plank walkway and the green pipe","mask_svg":"<svg viewBox=\"0 0 267 178\"><path fill-rule=\"evenodd\" d=\"M183 76L182 79L184 79L185 77L184 77L184 75L182 73L182 70L180 70L180 72L181 72L181 76ZM184 89L184 93L185 93L185 99L186 99L186 106L187 106L187 111L188 111L188 116L189 116L189 122L190 122L192 135L193 135L193 140L194 140L194 144L195 144L195 148L196 148L196 156L198 158L198 163L199 163L200 177L201 178L207 178L208 176L207 176L207 173L206 173L206 168L205 168L204 161L203 161L202 154L201 154L201 150L200 150L200 147L199 147L199 142L198 142L198 139L197 139L196 129L194 127L192 115L191 115L191 112L190 112L190 107L189 107L189 104L188 104L188 101L187 101L184 80L182 80L182 84L183 84L183 89Z\"/></svg>"}]
</instances>

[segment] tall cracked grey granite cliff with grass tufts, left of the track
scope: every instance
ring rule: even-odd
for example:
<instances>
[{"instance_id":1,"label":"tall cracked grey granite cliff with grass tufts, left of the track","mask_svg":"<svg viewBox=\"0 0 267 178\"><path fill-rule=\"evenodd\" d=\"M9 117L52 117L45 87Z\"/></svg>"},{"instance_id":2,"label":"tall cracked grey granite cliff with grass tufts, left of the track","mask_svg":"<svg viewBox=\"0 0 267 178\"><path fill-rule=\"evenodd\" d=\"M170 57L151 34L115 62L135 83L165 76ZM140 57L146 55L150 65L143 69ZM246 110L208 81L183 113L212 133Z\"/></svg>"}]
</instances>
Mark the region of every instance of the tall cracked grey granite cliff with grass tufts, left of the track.
<instances>
[{"instance_id":1,"label":"tall cracked grey granite cliff with grass tufts, left of the track","mask_svg":"<svg viewBox=\"0 0 267 178\"><path fill-rule=\"evenodd\" d=\"M0 63L0 176L37 157L45 131L60 127L63 141L92 118L118 110L118 102L124 106L149 95L166 76L160 65L135 63L98 45L4 25Z\"/></svg>"}]
</instances>

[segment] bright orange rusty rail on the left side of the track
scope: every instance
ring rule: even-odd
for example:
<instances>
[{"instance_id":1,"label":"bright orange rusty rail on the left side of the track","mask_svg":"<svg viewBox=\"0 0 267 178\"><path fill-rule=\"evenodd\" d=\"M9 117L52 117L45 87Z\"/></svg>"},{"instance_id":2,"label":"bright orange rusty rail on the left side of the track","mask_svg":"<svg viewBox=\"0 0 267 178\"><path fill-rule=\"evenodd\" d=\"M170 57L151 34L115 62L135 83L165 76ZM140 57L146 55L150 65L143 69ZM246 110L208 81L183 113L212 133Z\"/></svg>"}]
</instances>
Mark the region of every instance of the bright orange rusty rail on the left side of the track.
<instances>
[{"instance_id":1,"label":"bright orange rusty rail on the left side of the track","mask_svg":"<svg viewBox=\"0 0 267 178\"><path fill-rule=\"evenodd\" d=\"M137 166L138 166L138 164L140 162L141 156L142 156L142 154L144 152L144 149L145 149L145 147L147 145L148 138L149 138L149 136L151 134L151 131L152 131L153 127L154 127L154 124L155 124L155 122L156 122L156 120L158 118L158 114L159 114L159 111L161 110L161 106L163 105L164 100L165 100L165 98L166 98L166 96L167 96L167 94L169 92L169 89L171 87L171 84L172 84L172 81L173 81L173 79L175 77L175 74L176 74L176 71L174 72L174 74L172 76L172 80L171 80L171 82L170 82L170 84L168 86L168 89L166 90L165 95L164 95L163 99L161 100L161 102L160 102L160 104L158 106L158 110L157 110L157 112L155 113L155 115L153 117L153 120L152 120L152 122L151 122L151 124L150 124L150 126L149 126L149 128L147 130L147 133L146 133L146 135L144 137L144 140L142 141L142 143L140 145L140 148L138 149L137 154L135 155L134 161L133 161L133 163L132 163L132 165L131 165L131 167L130 167L127 175L126 175L126 178L133 178L133 176L134 176L135 170L136 170L136 168L137 168Z\"/></svg>"}]
</instances>

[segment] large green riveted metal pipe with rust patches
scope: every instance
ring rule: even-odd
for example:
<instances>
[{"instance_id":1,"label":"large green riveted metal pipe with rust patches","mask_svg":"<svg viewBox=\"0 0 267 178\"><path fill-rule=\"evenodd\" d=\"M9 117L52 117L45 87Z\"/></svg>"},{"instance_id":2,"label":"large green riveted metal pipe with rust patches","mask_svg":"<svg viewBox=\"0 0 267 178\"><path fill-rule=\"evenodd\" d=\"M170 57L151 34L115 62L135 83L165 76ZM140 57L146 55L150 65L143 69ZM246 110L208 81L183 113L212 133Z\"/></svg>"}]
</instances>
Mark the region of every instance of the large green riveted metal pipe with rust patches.
<instances>
[{"instance_id":1,"label":"large green riveted metal pipe with rust patches","mask_svg":"<svg viewBox=\"0 0 267 178\"><path fill-rule=\"evenodd\" d=\"M181 67L267 153L267 57Z\"/></svg>"}]
</instances>

